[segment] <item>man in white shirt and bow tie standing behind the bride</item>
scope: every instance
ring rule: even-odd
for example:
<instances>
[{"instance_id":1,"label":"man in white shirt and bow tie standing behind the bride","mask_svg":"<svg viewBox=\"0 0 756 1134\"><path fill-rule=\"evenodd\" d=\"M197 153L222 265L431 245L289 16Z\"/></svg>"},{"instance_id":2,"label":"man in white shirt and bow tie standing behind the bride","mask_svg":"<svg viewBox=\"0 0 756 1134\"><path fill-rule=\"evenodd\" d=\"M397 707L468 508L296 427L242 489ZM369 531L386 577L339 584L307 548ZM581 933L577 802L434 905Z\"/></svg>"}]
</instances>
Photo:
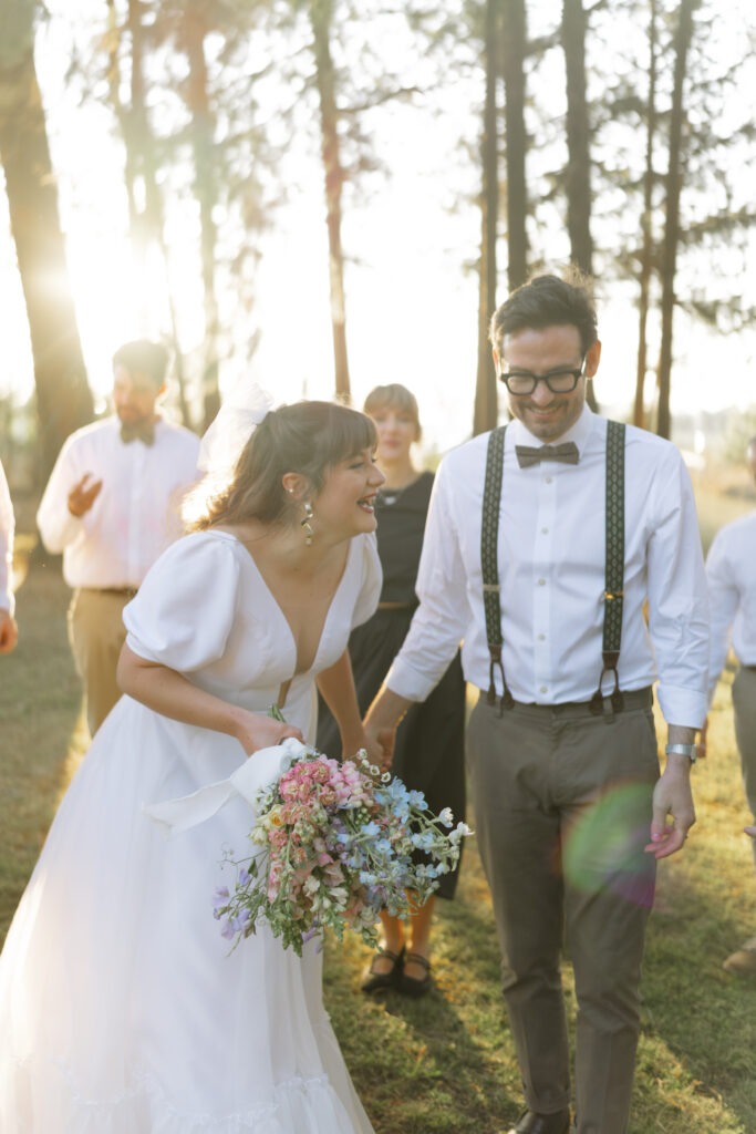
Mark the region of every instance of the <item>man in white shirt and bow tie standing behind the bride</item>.
<instances>
[{"instance_id":1,"label":"man in white shirt and bow tie standing behind the bride","mask_svg":"<svg viewBox=\"0 0 756 1134\"><path fill-rule=\"evenodd\" d=\"M137 339L119 347L116 412L68 438L36 516L48 551L62 552L74 589L68 633L92 735L120 697L124 607L181 534L181 498L198 475L198 439L158 413L167 365L160 344Z\"/></svg>"}]
</instances>

